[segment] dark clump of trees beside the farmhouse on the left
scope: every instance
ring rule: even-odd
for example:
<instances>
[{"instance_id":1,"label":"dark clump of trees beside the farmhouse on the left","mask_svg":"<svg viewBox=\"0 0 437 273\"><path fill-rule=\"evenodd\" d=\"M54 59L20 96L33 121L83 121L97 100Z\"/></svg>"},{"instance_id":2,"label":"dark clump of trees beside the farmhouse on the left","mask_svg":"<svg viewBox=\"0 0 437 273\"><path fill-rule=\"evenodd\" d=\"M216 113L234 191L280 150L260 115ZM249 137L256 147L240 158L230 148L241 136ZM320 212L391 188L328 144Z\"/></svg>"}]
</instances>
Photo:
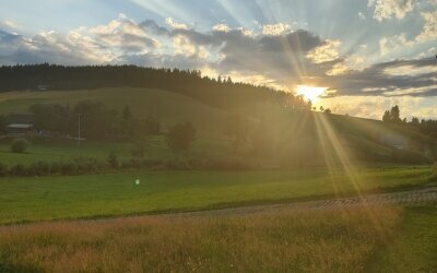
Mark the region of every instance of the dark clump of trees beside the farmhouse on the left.
<instances>
[{"instance_id":1,"label":"dark clump of trees beside the farmhouse on the left","mask_svg":"<svg viewBox=\"0 0 437 273\"><path fill-rule=\"evenodd\" d=\"M29 107L38 131L61 133L92 140L133 139L158 134L161 126L154 118L139 119L128 106L119 112L102 103L83 100L73 107L59 104L37 104Z\"/></svg>"}]
</instances>

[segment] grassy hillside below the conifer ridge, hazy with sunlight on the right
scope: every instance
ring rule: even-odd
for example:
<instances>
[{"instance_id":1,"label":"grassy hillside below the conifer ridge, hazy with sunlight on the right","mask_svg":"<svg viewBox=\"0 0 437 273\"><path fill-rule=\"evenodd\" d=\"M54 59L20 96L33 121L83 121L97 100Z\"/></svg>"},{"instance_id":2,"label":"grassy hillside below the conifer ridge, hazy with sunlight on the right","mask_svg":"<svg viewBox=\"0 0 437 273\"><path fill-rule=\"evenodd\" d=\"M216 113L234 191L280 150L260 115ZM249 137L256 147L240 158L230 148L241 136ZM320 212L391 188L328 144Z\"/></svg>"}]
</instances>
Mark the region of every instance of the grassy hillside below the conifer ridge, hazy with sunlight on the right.
<instances>
[{"instance_id":1,"label":"grassy hillside below the conifer ridge, hazy with sunlight on the right","mask_svg":"<svg viewBox=\"0 0 437 273\"><path fill-rule=\"evenodd\" d=\"M102 102L119 111L129 106L139 118L152 116L160 120L164 132L174 124L190 121L198 131L197 143L208 142L197 150L203 155L212 151L215 155L232 154L234 139L238 136L228 132L228 126L238 120L234 126L246 140L238 155L268 165L294 166L302 162L338 165L344 164L344 156L347 161L417 164L426 162L433 142L409 126L284 109L269 103L225 110L175 92L134 87L3 92L0 115L26 112L35 104L74 105L81 100ZM164 140L160 142L161 146L166 145ZM326 158L328 154L330 158Z\"/></svg>"}]
</instances>

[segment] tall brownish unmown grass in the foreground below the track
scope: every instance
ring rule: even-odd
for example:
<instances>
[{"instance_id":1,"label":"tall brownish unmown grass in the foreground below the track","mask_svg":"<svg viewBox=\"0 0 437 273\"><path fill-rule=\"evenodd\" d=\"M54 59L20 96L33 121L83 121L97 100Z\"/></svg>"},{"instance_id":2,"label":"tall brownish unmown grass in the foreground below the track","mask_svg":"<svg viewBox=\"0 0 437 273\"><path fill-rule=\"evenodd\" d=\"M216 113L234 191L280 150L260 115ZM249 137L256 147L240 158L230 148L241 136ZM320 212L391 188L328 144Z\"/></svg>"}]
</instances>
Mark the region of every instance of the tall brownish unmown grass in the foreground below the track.
<instances>
[{"instance_id":1,"label":"tall brownish unmown grass in the foreground below the track","mask_svg":"<svg viewBox=\"0 0 437 273\"><path fill-rule=\"evenodd\" d=\"M359 272L392 236L400 212L281 210L1 227L0 272Z\"/></svg>"}]
</instances>

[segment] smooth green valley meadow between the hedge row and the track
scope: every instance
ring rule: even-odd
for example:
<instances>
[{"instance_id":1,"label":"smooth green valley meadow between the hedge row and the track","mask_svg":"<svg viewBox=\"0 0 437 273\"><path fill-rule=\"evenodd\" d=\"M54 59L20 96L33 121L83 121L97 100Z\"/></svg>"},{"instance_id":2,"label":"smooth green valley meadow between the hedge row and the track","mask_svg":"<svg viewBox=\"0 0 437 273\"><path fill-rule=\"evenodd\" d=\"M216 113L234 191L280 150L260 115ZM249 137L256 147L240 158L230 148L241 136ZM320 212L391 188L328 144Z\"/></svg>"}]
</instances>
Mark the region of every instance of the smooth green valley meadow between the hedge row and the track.
<instances>
[{"instance_id":1,"label":"smooth green valley meadow between the hedge row and the track","mask_svg":"<svg viewBox=\"0 0 437 273\"><path fill-rule=\"evenodd\" d=\"M1 178L0 224L356 195L425 185L429 168L156 171ZM141 183L135 185L140 179Z\"/></svg>"}]
</instances>

